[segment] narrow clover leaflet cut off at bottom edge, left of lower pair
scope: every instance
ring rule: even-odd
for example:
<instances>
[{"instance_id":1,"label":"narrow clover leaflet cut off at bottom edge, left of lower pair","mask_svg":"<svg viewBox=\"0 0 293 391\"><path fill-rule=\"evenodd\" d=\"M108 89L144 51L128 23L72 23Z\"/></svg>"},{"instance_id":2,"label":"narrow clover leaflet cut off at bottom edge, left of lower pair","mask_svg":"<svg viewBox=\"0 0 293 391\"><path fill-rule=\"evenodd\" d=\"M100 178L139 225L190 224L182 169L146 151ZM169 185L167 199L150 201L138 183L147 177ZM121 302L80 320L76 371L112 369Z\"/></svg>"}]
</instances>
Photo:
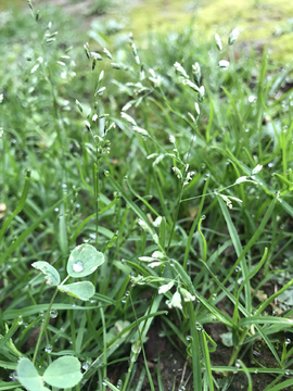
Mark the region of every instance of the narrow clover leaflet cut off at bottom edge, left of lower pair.
<instances>
[{"instance_id":1,"label":"narrow clover leaflet cut off at bottom edge, left of lower pair","mask_svg":"<svg viewBox=\"0 0 293 391\"><path fill-rule=\"evenodd\" d=\"M42 379L39 376L35 365L28 358L22 358L16 368L20 382L28 391L43 390Z\"/></svg>"}]
</instances>

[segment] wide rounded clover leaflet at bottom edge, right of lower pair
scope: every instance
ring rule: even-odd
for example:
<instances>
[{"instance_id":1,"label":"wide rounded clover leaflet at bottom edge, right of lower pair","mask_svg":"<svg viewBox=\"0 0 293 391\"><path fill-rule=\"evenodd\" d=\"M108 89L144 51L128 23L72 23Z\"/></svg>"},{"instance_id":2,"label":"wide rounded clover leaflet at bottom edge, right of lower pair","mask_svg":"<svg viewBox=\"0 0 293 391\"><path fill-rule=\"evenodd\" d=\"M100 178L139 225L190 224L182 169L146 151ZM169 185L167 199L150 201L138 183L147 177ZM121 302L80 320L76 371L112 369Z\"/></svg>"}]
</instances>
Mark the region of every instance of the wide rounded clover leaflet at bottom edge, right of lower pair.
<instances>
[{"instance_id":1,"label":"wide rounded clover leaflet at bottom edge, right of lower pair","mask_svg":"<svg viewBox=\"0 0 293 391\"><path fill-rule=\"evenodd\" d=\"M55 360L44 370L43 380L58 388L75 387L82 379L80 363L76 357L64 356Z\"/></svg>"}]
</instances>

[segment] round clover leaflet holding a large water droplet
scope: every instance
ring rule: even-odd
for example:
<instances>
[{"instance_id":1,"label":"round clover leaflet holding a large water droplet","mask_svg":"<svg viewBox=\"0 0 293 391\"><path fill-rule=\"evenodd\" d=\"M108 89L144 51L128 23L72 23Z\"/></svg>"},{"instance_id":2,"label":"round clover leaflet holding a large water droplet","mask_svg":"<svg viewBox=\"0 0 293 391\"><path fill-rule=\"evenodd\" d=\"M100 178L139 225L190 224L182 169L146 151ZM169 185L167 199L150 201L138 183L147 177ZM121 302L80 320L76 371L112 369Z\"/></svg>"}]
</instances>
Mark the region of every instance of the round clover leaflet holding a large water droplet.
<instances>
[{"instance_id":1,"label":"round clover leaflet holding a large water droplet","mask_svg":"<svg viewBox=\"0 0 293 391\"><path fill-rule=\"evenodd\" d=\"M104 254L91 244L77 245L67 262L67 273L71 277L79 278L92 274L104 262Z\"/></svg>"}]
</instances>

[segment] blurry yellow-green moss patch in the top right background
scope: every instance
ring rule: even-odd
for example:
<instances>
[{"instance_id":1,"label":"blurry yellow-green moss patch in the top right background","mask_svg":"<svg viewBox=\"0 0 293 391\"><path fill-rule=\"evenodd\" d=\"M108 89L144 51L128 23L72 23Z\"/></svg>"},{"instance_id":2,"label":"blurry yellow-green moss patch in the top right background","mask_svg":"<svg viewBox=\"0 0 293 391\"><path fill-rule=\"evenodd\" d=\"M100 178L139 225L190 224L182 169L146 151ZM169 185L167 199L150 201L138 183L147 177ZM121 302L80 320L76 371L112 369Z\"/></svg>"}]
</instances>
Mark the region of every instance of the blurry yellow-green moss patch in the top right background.
<instances>
[{"instance_id":1,"label":"blurry yellow-green moss patch in the top right background","mask_svg":"<svg viewBox=\"0 0 293 391\"><path fill-rule=\"evenodd\" d=\"M275 33L293 14L293 2L288 0L203 0L192 3L186 0L145 0L131 10L131 26L137 37L149 29L160 31L180 30L194 15L196 39L211 40L215 33L227 42L230 30L240 27L243 41L268 42L271 58L280 63L292 61L290 40L292 34L278 37ZM292 26L290 26L291 28ZM285 28L286 30L288 28ZM292 27L293 30L293 27Z\"/></svg>"}]
</instances>

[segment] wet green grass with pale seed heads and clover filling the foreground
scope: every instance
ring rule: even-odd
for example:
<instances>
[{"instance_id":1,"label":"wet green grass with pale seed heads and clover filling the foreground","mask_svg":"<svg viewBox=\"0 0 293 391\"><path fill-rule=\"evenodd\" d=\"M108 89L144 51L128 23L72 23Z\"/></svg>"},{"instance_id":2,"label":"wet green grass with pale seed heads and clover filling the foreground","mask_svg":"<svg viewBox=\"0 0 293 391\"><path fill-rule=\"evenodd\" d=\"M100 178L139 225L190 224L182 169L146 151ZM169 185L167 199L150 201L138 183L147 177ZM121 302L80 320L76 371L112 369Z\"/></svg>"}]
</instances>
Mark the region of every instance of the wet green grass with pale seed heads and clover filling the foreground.
<instances>
[{"instance_id":1,"label":"wet green grass with pale seed heads and clover filling the foreground","mask_svg":"<svg viewBox=\"0 0 293 391\"><path fill-rule=\"evenodd\" d=\"M289 71L192 21L104 51L31 13L1 14L0 389L166 390L155 324L173 389L290 389Z\"/></svg>"}]
</instances>

